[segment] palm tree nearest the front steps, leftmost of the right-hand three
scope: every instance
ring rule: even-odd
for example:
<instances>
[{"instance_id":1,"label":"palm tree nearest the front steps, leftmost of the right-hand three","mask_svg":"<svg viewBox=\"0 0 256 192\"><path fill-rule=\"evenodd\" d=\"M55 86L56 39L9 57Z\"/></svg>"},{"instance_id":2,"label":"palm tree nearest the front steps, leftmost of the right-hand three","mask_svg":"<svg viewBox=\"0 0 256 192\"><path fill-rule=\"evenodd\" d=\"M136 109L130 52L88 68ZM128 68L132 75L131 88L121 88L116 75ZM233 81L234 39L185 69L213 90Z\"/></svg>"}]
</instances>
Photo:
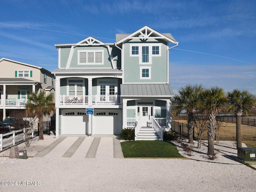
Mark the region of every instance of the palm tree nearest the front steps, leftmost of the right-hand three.
<instances>
[{"instance_id":1,"label":"palm tree nearest the front steps, leftmost of the right-hand three","mask_svg":"<svg viewBox=\"0 0 256 192\"><path fill-rule=\"evenodd\" d=\"M173 101L178 105L173 111L174 116L186 110L188 114L188 143L193 144L194 113L200 108L200 94L204 90L201 84L186 85L178 90L178 95L174 95Z\"/></svg>"}]
</instances>

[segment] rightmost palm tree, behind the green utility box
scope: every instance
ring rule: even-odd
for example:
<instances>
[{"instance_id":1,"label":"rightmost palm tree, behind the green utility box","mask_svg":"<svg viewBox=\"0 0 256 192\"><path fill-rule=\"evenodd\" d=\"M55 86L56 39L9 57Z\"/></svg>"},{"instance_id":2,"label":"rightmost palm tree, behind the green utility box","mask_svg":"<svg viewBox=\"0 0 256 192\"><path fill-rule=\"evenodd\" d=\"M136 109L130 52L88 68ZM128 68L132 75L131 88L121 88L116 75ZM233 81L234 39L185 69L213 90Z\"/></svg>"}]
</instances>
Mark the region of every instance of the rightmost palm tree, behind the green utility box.
<instances>
[{"instance_id":1,"label":"rightmost palm tree, behind the green utility box","mask_svg":"<svg viewBox=\"0 0 256 192\"><path fill-rule=\"evenodd\" d=\"M236 116L236 147L242 147L241 116L248 116L249 107L256 104L256 96L245 90L234 89L226 94L229 104L227 111Z\"/></svg>"}]
</instances>

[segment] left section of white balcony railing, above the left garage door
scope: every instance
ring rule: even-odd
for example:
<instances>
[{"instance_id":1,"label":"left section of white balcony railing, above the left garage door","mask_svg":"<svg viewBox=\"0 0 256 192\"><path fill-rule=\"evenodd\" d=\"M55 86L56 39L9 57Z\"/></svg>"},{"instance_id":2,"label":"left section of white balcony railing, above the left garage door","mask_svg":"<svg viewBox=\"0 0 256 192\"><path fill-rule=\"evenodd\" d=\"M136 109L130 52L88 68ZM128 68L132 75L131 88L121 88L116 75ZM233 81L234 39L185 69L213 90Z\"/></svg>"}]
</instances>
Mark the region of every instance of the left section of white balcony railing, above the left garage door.
<instances>
[{"instance_id":1,"label":"left section of white balcony railing, above the left garage door","mask_svg":"<svg viewBox=\"0 0 256 192\"><path fill-rule=\"evenodd\" d=\"M88 104L88 96L60 96L60 105Z\"/></svg>"}]
</instances>

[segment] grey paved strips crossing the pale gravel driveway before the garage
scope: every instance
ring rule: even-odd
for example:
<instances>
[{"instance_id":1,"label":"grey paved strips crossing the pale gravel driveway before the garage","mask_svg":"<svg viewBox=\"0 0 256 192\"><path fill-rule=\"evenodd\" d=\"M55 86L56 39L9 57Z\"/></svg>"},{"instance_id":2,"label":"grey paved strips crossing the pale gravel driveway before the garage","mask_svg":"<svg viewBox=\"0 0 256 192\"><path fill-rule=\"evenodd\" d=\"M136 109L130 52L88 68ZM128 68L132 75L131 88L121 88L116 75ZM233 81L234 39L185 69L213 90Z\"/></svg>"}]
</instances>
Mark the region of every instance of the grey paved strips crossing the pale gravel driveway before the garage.
<instances>
[{"instance_id":1,"label":"grey paved strips crossing the pale gravel driveway before the garage","mask_svg":"<svg viewBox=\"0 0 256 192\"><path fill-rule=\"evenodd\" d=\"M41 152L38 152L38 154L35 155L35 157L44 157L46 154L48 154L51 150L53 150L58 144L60 144L63 140L65 140L68 136L62 136L58 138L55 142L50 144L48 147L46 147ZM102 136L102 135L95 135L90 148L86 154L86 158L95 158L98 146L100 144L100 139L102 137L112 137L113 138L113 154L114 158L124 158L120 140L116 138L116 136ZM65 154L62 157L72 157L72 155L76 152L76 150L79 148L79 146L82 144L82 142L86 139L84 136L79 136L78 139L72 144L72 146L65 152Z\"/></svg>"}]
</instances>

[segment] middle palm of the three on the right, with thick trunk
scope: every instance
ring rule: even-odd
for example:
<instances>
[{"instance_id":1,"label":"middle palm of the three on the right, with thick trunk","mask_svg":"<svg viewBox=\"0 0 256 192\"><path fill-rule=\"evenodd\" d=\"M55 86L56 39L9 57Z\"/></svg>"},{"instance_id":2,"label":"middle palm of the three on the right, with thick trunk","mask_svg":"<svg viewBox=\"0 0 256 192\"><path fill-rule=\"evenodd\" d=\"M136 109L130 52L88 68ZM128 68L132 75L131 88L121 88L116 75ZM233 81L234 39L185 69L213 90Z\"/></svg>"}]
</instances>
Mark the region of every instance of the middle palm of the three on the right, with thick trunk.
<instances>
[{"instance_id":1,"label":"middle palm of the three on the right, with thick trunk","mask_svg":"<svg viewBox=\"0 0 256 192\"><path fill-rule=\"evenodd\" d=\"M226 97L224 90L218 87L212 87L202 93L204 98L204 105L209 112L208 122L208 155L214 156L214 140L216 133L216 114L220 108L226 104Z\"/></svg>"}]
</instances>

